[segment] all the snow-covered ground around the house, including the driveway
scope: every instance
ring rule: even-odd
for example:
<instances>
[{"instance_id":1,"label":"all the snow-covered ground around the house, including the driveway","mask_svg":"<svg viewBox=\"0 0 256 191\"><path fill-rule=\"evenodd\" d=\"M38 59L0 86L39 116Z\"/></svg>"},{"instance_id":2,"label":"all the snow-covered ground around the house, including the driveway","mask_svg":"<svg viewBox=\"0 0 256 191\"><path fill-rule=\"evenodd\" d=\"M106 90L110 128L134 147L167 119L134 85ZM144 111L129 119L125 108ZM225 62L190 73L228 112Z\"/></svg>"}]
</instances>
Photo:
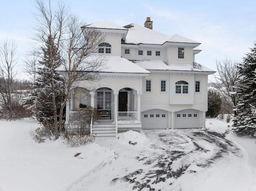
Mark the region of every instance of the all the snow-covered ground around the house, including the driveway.
<instances>
[{"instance_id":1,"label":"all the snow-covered ground around the house, including the driveway","mask_svg":"<svg viewBox=\"0 0 256 191\"><path fill-rule=\"evenodd\" d=\"M0 121L0 191L256 191L255 139L228 125L207 118L207 130L126 132L71 148L34 142L35 120Z\"/></svg>"}]
</instances>

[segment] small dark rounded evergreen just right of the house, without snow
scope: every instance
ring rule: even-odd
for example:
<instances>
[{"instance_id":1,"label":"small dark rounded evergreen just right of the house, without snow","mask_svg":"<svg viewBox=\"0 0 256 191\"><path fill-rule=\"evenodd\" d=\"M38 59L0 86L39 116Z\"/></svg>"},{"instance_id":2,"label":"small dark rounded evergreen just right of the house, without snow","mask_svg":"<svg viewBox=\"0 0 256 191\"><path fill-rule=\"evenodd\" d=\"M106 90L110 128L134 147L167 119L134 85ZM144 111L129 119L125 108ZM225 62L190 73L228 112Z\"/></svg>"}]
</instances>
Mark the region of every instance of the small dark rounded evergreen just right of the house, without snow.
<instances>
[{"instance_id":1,"label":"small dark rounded evergreen just right of the house, without snow","mask_svg":"<svg viewBox=\"0 0 256 191\"><path fill-rule=\"evenodd\" d=\"M209 90L208 91L208 111L206 116L208 117L217 117L220 114L222 100L220 94Z\"/></svg>"}]
</instances>

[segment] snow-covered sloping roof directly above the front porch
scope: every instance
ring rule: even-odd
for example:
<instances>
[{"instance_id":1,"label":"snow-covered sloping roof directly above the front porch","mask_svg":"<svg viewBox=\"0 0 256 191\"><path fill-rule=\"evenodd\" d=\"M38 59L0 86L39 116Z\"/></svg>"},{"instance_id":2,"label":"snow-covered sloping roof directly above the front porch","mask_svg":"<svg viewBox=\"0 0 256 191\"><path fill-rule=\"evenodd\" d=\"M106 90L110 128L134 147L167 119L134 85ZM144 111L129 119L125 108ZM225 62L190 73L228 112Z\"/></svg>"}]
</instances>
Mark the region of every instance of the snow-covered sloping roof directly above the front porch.
<instances>
[{"instance_id":1,"label":"snow-covered sloping roof directly above the front porch","mask_svg":"<svg viewBox=\"0 0 256 191\"><path fill-rule=\"evenodd\" d=\"M91 67L93 63L100 63L102 67ZM61 66L57 71L66 71L64 66ZM149 71L136 65L135 63L120 57L112 55L91 55L83 60L77 71L103 72L103 73L135 73L135 74L150 74Z\"/></svg>"}]
</instances>

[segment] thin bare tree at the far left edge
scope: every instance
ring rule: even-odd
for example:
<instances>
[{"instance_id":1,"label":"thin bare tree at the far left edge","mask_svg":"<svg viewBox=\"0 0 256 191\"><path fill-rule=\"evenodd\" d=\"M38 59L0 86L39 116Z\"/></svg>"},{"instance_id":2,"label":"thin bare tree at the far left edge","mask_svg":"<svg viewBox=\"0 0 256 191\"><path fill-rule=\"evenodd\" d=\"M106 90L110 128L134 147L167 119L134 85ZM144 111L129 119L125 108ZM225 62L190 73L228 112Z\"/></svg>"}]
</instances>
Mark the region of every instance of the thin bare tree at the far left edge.
<instances>
[{"instance_id":1,"label":"thin bare tree at the far left edge","mask_svg":"<svg viewBox=\"0 0 256 191\"><path fill-rule=\"evenodd\" d=\"M15 70L18 57L16 57L16 44L14 41L4 40L0 45L0 94L4 106L8 110L8 117L12 118L12 83L17 74Z\"/></svg>"}]
</instances>

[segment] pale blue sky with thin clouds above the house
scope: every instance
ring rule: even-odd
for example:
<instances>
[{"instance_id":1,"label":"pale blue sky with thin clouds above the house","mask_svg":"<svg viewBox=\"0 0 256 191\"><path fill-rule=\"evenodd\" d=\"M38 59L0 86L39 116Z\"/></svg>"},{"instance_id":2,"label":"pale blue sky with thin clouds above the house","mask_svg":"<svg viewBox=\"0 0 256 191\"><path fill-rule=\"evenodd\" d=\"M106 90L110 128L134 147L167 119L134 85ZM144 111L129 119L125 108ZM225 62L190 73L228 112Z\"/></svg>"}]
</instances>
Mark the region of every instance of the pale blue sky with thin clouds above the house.
<instances>
[{"instance_id":1,"label":"pale blue sky with thin clouds above the house","mask_svg":"<svg viewBox=\"0 0 256 191\"><path fill-rule=\"evenodd\" d=\"M46 0L46 2L48 2ZM56 2L53 0L53 2ZM62 0L70 12L86 24L107 20L119 26L144 25L146 17L153 30L172 36L179 34L201 43L195 61L216 70L216 61L242 61L256 41L255 0ZM1 0L0 42L14 40L19 56L19 76L35 35L34 0ZM213 77L210 76L212 81Z\"/></svg>"}]
</instances>

